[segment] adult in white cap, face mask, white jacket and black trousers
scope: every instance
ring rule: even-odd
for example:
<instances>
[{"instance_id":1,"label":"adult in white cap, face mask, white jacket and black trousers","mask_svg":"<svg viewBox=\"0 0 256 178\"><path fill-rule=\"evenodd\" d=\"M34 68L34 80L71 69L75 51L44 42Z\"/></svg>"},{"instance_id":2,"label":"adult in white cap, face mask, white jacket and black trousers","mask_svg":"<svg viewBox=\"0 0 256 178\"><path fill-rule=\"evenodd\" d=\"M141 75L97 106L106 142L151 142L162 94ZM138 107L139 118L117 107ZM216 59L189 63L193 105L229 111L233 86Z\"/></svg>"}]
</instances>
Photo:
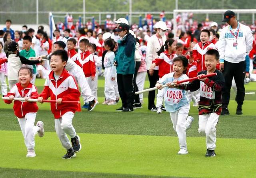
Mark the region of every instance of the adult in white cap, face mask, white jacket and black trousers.
<instances>
[{"instance_id":1,"label":"adult in white cap, face mask, white jacket and black trousers","mask_svg":"<svg viewBox=\"0 0 256 178\"><path fill-rule=\"evenodd\" d=\"M159 80L158 76L158 66L154 68L154 70L150 70L150 66L152 61L158 58L157 52L160 50L162 45L164 45L166 41L166 30L168 27L166 23L163 21L159 21L154 25L156 29L156 34L152 35L147 43L147 53L146 53L146 64L147 64L147 72L148 79L150 82L150 88L155 87L156 82ZM148 92L148 109L151 111L157 111L155 105L155 91Z\"/></svg>"}]
</instances>

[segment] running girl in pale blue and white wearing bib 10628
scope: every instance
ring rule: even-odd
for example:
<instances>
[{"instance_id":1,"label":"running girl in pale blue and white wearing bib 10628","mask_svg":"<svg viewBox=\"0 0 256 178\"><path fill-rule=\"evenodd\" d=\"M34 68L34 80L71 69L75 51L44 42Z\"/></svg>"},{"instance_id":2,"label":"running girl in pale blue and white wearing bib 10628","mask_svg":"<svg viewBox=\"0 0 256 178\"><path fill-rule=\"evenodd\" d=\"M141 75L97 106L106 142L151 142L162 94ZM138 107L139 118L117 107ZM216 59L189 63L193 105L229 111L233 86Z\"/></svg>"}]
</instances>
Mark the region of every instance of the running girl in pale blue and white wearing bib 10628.
<instances>
[{"instance_id":1,"label":"running girl in pale blue and white wearing bib 10628","mask_svg":"<svg viewBox=\"0 0 256 178\"><path fill-rule=\"evenodd\" d=\"M173 71L164 75L157 83L156 88L162 89L162 85L167 84L164 88L164 104L166 111L170 112L173 128L179 139L180 151L179 155L188 154L186 143L186 130L191 127L194 118L188 116L190 109L189 100L185 90L173 88L171 83L177 80L188 79L186 70L188 67L188 59L184 56L178 56L173 59Z\"/></svg>"}]
</instances>

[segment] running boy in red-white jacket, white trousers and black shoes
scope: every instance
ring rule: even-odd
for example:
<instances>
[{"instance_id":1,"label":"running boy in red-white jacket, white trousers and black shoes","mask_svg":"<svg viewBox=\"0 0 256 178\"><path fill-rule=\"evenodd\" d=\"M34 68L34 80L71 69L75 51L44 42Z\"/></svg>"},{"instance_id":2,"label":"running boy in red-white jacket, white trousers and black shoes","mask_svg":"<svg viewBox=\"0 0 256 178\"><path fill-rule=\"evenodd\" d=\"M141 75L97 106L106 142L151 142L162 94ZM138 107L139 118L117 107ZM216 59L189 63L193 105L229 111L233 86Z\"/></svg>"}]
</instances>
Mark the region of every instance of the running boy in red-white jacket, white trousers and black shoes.
<instances>
[{"instance_id":1,"label":"running boy in red-white jacket, white trousers and black shoes","mask_svg":"<svg viewBox=\"0 0 256 178\"><path fill-rule=\"evenodd\" d=\"M62 101L79 101L80 92L73 76L64 67L68 61L66 51L57 50L52 53L51 68L49 76L46 78L44 90L38 98L38 102L51 97L56 103L51 103L51 110L54 115L55 130L62 143L67 149L63 159L76 157L76 152L81 150L80 138L76 135L76 130L72 125L74 113L78 109L78 104L62 103ZM71 143L67 137L71 137Z\"/></svg>"}]
</instances>

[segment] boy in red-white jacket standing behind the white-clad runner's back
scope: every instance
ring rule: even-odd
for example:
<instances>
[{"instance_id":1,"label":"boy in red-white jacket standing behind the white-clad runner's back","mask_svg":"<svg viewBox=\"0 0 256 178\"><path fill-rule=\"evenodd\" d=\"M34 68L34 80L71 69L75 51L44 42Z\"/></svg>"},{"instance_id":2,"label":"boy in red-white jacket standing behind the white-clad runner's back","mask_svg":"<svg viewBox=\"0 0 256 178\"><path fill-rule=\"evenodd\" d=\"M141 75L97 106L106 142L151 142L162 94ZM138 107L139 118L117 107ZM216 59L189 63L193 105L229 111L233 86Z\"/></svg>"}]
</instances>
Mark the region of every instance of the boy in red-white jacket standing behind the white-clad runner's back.
<instances>
[{"instance_id":1,"label":"boy in red-white jacket standing behind the white-clad runner's back","mask_svg":"<svg viewBox=\"0 0 256 178\"><path fill-rule=\"evenodd\" d=\"M86 80L88 81L88 84L92 90L92 81L95 80L96 74L96 65L94 62L94 57L89 51L89 44L90 43L88 39L81 39L79 42L79 46L82 53L78 54L77 58L73 60L75 60L76 64L83 69Z\"/></svg>"}]
</instances>

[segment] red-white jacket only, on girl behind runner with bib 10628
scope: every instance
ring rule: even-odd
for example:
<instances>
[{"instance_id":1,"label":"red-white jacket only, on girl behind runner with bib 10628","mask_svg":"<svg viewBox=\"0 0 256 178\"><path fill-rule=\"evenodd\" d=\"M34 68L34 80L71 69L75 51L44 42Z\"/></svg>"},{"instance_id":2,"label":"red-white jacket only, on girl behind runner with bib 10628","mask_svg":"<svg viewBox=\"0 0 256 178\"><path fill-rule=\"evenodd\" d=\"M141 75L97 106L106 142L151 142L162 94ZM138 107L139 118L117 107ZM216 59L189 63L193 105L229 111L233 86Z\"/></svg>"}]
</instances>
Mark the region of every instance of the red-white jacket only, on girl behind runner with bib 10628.
<instances>
[{"instance_id":1,"label":"red-white jacket only, on girl behind runner with bib 10628","mask_svg":"<svg viewBox=\"0 0 256 178\"><path fill-rule=\"evenodd\" d=\"M162 78L165 74L173 72L172 61L176 57L175 53L171 55L168 53L168 50L162 52L157 59L152 61L152 64L155 63L156 66L159 66L158 76Z\"/></svg>"}]
</instances>

